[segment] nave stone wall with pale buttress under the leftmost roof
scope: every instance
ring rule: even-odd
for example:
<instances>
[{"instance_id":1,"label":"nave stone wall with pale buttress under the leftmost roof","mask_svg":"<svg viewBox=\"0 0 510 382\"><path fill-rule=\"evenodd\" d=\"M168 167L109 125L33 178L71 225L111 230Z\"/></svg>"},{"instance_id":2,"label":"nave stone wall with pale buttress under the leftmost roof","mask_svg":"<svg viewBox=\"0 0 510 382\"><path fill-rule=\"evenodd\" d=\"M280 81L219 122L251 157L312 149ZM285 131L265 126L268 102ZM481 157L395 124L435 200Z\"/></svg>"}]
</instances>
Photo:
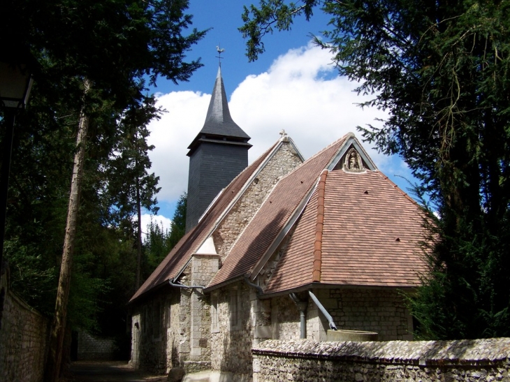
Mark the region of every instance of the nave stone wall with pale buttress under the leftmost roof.
<instances>
[{"instance_id":1,"label":"nave stone wall with pale buttress under the leftmost roof","mask_svg":"<svg viewBox=\"0 0 510 382\"><path fill-rule=\"evenodd\" d=\"M219 256L194 255L180 275L183 286L204 286ZM131 364L158 374L210 369L210 297L201 288L166 287L133 308Z\"/></svg>"}]
</instances>

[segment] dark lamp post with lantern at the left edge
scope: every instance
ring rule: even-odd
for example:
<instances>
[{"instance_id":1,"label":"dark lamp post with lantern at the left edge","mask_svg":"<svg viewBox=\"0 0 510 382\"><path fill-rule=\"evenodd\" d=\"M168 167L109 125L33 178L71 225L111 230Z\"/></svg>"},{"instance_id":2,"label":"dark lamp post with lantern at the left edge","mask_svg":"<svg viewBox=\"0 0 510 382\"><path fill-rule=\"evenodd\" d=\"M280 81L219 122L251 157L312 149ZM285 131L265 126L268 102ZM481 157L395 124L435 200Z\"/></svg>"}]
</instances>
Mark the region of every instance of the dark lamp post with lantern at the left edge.
<instances>
[{"instance_id":1,"label":"dark lamp post with lantern at the left edge","mask_svg":"<svg viewBox=\"0 0 510 382\"><path fill-rule=\"evenodd\" d=\"M8 54L4 50L4 54ZM24 57L23 57L24 56ZM29 57L0 57L0 108L3 108L3 161L0 177L0 271L3 258L3 235L6 229L7 191L9 185L10 154L13 152L13 133L16 113L24 109L30 95L32 76L27 68Z\"/></svg>"}]
</instances>

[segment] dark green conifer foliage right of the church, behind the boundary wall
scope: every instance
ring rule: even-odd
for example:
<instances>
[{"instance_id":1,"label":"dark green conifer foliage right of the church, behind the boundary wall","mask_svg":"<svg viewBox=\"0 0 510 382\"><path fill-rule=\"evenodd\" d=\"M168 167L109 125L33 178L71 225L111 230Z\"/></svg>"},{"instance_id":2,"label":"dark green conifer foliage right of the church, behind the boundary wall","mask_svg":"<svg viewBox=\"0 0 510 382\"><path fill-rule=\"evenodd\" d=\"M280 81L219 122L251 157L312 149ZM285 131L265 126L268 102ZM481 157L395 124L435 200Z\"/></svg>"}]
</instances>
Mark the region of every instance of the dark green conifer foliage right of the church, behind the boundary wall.
<instances>
[{"instance_id":1,"label":"dark green conifer foliage right of the church, behind the boundary wall","mask_svg":"<svg viewBox=\"0 0 510 382\"><path fill-rule=\"evenodd\" d=\"M411 309L423 338L510 333L510 1L261 1L245 10L247 55L271 26L286 29L309 7L331 19L324 41L340 75L386 110L360 128L398 154L429 211L424 275ZM435 221L435 223L430 223Z\"/></svg>"}]
</instances>

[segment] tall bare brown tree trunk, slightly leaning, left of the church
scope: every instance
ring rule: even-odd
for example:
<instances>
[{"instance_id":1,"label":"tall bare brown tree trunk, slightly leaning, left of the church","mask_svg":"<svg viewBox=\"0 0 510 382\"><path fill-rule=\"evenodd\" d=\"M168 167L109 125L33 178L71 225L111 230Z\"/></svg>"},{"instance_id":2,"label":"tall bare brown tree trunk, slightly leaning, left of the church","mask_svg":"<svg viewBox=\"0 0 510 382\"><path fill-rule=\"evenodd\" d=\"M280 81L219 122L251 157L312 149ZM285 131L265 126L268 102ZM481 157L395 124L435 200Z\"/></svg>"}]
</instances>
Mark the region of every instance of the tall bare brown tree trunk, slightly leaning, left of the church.
<instances>
[{"instance_id":1,"label":"tall bare brown tree trunk, slightly leaning, left of the church","mask_svg":"<svg viewBox=\"0 0 510 382\"><path fill-rule=\"evenodd\" d=\"M76 153L74 156L73 177L71 179L71 194L67 210L66 235L64 237L64 251L60 266L59 286L57 288L57 302L50 332L50 349L45 369L45 381L59 381L62 348L66 332L67 302L69 286L71 284L71 266L73 260L76 222L78 220L78 207L80 203L80 189L82 185L83 166L85 164L85 141L89 127L89 116L85 113L85 95L90 89L88 78L84 81L84 104L80 112L78 134L76 137Z\"/></svg>"}]
</instances>

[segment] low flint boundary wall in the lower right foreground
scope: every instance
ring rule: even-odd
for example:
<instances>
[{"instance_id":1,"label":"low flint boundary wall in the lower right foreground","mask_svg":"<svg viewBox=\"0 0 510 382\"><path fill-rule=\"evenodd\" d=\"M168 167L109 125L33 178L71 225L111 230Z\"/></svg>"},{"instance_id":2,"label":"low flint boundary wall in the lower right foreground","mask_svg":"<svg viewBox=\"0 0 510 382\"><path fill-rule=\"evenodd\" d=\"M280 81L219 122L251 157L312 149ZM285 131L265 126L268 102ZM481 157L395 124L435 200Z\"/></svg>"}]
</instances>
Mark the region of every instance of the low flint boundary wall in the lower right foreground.
<instances>
[{"instance_id":1,"label":"low flint boundary wall in the lower right foreground","mask_svg":"<svg viewBox=\"0 0 510 382\"><path fill-rule=\"evenodd\" d=\"M254 346L254 382L510 381L510 338L317 342Z\"/></svg>"}]
</instances>

